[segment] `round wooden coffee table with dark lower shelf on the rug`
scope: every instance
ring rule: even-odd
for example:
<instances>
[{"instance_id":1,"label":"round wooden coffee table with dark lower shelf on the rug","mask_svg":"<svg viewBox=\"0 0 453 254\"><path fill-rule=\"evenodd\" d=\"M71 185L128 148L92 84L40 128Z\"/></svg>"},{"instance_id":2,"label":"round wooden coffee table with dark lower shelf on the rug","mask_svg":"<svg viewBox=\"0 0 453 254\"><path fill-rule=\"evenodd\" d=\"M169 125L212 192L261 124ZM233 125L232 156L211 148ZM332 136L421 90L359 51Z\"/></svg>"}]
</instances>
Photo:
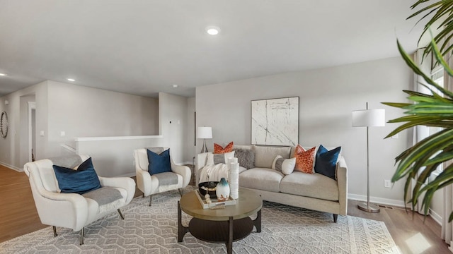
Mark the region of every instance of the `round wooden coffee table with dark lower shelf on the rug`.
<instances>
[{"instance_id":1,"label":"round wooden coffee table with dark lower shelf on the rug","mask_svg":"<svg viewBox=\"0 0 453 254\"><path fill-rule=\"evenodd\" d=\"M195 191L185 193L178 201L178 241L185 233L210 243L225 243L227 253L233 253L233 242L248 236L256 227L261 232L261 207L263 199L254 191L239 188L235 205L222 209L203 209ZM181 210L193 217L189 226L181 224ZM252 220L249 216L257 214Z\"/></svg>"}]
</instances>

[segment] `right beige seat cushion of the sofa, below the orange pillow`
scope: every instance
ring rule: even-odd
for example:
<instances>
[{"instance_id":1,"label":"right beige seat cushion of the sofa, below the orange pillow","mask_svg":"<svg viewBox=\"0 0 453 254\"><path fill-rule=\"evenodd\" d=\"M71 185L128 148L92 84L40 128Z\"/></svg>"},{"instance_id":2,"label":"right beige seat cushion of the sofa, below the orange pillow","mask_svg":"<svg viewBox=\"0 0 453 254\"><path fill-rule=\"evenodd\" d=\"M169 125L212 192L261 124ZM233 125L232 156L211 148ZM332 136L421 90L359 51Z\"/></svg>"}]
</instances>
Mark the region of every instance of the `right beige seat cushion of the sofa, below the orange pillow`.
<instances>
[{"instance_id":1,"label":"right beige seat cushion of the sofa, below the orange pillow","mask_svg":"<svg viewBox=\"0 0 453 254\"><path fill-rule=\"evenodd\" d=\"M240 182L240 181L239 181ZM310 198L338 201L338 183L322 174L305 174L294 171L283 177L280 191Z\"/></svg>"}]
</instances>

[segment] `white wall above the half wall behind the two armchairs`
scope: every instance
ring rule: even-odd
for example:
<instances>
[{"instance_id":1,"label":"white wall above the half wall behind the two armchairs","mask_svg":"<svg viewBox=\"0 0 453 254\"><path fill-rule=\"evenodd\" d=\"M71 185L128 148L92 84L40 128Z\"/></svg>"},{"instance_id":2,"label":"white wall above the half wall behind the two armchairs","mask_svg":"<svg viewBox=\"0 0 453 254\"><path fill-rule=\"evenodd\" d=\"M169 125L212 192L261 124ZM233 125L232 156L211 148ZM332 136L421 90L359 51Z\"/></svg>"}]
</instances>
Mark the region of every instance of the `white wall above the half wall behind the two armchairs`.
<instances>
[{"instance_id":1,"label":"white wall above the half wall behind the two armchairs","mask_svg":"<svg viewBox=\"0 0 453 254\"><path fill-rule=\"evenodd\" d=\"M49 81L49 152L74 138L157 135L157 99ZM38 130L40 131L40 130ZM61 132L65 132L62 137Z\"/></svg>"}]
</instances>

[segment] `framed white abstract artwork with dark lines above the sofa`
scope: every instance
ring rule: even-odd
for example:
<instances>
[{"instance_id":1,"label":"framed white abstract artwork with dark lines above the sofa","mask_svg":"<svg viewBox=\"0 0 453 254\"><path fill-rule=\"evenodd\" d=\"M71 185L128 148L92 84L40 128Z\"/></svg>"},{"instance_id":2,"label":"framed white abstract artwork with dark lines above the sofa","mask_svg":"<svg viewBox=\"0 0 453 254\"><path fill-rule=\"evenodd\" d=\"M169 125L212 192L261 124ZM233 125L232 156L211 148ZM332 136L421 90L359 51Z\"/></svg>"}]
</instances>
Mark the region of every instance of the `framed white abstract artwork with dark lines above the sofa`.
<instances>
[{"instance_id":1,"label":"framed white abstract artwork with dark lines above the sofa","mask_svg":"<svg viewBox=\"0 0 453 254\"><path fill-rule=\"evenodd\" d=\"M299 143L299 97L251 101L251 144Z\"/></svg>"}]
</instances>

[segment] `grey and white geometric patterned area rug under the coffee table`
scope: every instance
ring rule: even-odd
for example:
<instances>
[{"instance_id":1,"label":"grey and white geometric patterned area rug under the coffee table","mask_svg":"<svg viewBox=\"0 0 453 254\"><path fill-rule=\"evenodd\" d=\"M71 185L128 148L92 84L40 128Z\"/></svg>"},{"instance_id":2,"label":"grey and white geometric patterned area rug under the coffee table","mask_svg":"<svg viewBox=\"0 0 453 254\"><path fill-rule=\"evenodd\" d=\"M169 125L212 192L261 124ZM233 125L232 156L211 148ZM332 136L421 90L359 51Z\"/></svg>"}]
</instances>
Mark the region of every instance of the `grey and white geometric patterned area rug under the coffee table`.
<instances>
[{"instance_id":1,"label":"grey and white geometric patterned area rug under the coffee table","mask_svg":"<svg viewBox=\"0 0 453 254\"><path fill-rule=\"evenodd\" d=\"M185 191L190 191L188 187ZM178 243L178 191L134 198L117 213L86 226L84 245L79 232L52 227L0 243L0 253L226 253L226 246L185 234ZM190 217L183 213L183 224ZM384 222L316 212L263 202L262 231L233 243L234 253L399 253Z\"/></svg>"}]
</instances>

